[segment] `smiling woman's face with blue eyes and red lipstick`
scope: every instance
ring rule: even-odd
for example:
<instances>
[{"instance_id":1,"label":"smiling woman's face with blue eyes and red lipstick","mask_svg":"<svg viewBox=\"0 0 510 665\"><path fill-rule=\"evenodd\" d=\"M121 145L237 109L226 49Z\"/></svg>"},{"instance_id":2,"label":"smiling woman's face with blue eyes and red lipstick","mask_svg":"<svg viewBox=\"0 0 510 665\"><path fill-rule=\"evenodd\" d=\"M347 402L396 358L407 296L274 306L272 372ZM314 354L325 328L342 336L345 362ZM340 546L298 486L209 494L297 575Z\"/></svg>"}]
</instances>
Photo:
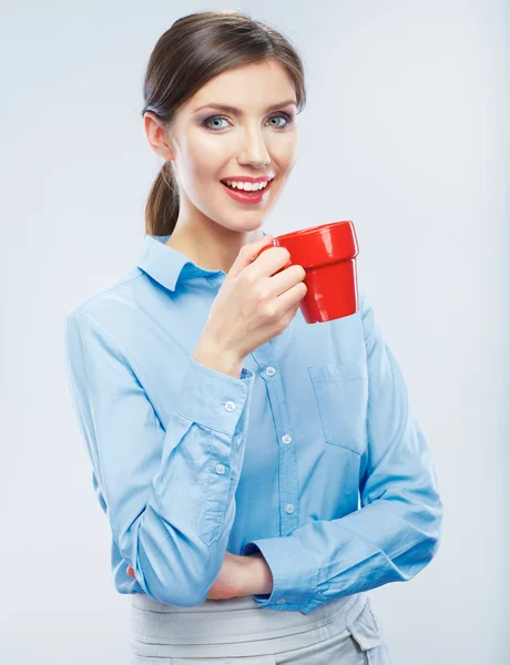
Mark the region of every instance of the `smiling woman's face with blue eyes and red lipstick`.
<instances>
[{"instance_id":1,"label":"smiling woman's face with blue eyes and red lipstick","mask_svg":"<svg viewBox=\"0 0 510 665\"><path fill-rule=\"evenodd\" d=\"M224 104L234 110L221 110ZM170 130L185 222L196 215L237 232L262 225L297 158L296 93L275 61L223 72L187 100ZM257 203L233 198L222 181L274 176Z\"/></svg>"}]
</instances>

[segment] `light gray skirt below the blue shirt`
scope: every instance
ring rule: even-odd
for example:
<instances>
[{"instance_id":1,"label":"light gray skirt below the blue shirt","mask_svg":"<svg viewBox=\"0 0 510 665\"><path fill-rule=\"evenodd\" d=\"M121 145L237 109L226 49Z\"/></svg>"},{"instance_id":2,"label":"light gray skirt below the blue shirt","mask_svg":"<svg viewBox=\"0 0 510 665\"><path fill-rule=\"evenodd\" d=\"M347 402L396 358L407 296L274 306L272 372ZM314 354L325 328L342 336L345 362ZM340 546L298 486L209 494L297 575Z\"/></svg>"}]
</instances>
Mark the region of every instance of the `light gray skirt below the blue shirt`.
<instances>
[{"instance_id":1,"label":"light gray skirt below the blue shirt","mask_svg":"<svg viewBox=\"0 0 510 665\"><path fill-rule=\"evenodd\" d=\"M258 607L252 596L195 607L131 600L131 665L392 665L366 593L308 614Z\"/></svg>"}]
</instances>

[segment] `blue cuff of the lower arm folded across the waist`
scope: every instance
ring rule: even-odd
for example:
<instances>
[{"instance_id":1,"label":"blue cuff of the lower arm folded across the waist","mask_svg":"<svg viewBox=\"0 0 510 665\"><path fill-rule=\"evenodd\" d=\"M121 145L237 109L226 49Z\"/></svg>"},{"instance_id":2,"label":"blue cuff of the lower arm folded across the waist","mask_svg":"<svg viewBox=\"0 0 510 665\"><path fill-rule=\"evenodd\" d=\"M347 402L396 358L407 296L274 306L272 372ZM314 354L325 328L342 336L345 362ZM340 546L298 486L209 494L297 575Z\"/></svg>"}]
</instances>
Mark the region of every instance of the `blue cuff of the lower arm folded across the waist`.
<instances>
[{"instance_id":1,"label":"blue cuff of the lower arm folded across the waist","mask_svg":"<svg viewBox=\"0 0 510 665\"><path fill-rule=\"evenodd\" d=\"M294 610L308 614L322 603L315 598L317 563L293 535L248 542L243 555L261 551L273 574L271 594L253 594L259 607Z\"/></svg>"}]
</instances>

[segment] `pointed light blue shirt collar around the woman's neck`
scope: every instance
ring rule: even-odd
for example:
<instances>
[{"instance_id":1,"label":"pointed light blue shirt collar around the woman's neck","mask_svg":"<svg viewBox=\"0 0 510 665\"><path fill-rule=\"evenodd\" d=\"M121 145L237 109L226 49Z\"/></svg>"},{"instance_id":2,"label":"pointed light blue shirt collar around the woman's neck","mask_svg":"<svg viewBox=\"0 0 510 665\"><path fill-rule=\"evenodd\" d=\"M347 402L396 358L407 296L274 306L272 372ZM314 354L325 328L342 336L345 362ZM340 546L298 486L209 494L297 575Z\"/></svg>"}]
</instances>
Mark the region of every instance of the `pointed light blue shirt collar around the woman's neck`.
<instances>
[{"instance_id":1,"label":"pointed light blue shirt collar around the woman's neck","mask_svg":"<svg viewBox=\"0 0 510 665\"><path fill-rule=\"evenodd\" d=\"M262 234L267 235L264 231ZM170 290L175 290L177 279L188 280L205 277L207 280L225 276L224 270L207 270L194 264L181 252L165 245L170 235L146 234L140 250L136 266Z\"/></svg>"}]
</instances>

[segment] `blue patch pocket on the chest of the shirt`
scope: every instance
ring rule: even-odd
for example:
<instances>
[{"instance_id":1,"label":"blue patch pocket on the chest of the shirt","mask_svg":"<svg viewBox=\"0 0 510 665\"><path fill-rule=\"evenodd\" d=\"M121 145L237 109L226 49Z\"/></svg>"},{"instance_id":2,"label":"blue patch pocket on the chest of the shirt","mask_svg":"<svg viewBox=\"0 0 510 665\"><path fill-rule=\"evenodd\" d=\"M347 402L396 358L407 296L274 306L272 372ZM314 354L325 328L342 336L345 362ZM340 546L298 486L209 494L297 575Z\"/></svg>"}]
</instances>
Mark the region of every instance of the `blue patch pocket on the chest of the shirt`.
<instances>
[{"instance_id":1,"label":"blue patch pocket on the chest of the shirt","mask_svg":"<svg viewBox=\"0 0 510 665\"><path fill-rule=\"evenodd\" d=\"M307 367L324 438L360 454L367 448L367 367L359 362Z\"/></svg>"}]
</instances>

